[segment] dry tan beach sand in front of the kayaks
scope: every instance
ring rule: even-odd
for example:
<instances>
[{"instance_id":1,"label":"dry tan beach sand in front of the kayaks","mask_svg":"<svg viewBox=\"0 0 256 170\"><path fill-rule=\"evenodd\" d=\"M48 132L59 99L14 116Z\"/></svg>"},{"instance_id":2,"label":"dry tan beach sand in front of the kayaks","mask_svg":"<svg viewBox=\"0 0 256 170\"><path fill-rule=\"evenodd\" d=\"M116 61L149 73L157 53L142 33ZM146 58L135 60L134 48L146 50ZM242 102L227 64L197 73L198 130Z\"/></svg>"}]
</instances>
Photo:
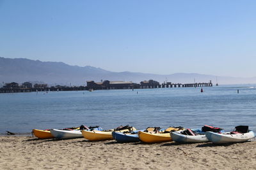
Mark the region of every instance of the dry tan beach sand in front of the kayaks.
<instances>
[{"instance_id":1,"label":"dry tan beach sand in front of the kayaks","mask_svg":"<svg viewBox=\"0 0 256 170\"><path fill-rule=\"evenodd\" d=\"M1 136L0 169L256 169L255 146Z\"/></svg>"}]
</instances>

